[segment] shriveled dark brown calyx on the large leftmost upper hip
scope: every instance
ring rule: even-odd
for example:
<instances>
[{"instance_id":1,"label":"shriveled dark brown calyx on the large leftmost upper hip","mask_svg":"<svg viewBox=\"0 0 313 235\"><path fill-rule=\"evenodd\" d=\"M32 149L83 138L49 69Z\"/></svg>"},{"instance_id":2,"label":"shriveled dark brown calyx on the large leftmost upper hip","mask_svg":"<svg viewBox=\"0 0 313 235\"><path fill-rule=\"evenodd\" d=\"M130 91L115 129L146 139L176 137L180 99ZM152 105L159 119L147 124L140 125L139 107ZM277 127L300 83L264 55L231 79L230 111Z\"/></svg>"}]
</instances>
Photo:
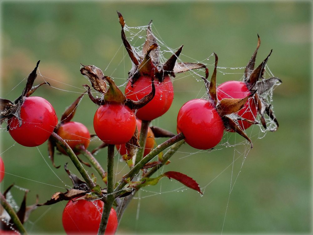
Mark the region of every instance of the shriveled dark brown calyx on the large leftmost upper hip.
<instances>
[{"instance_id":1,"label":"shriveled dark brown calyx on the large leftmost upper hip","mask_svg":"<svg viewBox=\"0 0 313 235\"><path fill-rule=\"evenodd\" d=\"M36 67L33 71L28 75L26 86L23 89L22 94L15 99L14 101L10 101L8 99L0 98L0 125L6 120L12 117L16 117L18 119L19 126L22 125L22 120L20 117L21 107L26 97L32 95L40 86L44 84L50 84L48 82L43 82L37 86L33 86L33 83L37 77L37 68L40 60L37 62Z\"/></svg>"}]
</instances>

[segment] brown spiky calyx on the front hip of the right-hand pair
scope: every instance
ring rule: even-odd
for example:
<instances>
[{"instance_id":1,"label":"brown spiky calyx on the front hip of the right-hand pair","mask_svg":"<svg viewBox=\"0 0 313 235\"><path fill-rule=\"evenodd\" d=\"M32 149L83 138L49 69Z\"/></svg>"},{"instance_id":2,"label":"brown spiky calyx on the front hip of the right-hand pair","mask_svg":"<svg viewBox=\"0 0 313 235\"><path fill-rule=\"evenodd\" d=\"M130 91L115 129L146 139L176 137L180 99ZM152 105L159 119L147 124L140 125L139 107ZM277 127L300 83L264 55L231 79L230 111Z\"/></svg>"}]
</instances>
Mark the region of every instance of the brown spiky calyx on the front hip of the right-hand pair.
<instances>
[{"instance_id":1,"label":"brown spiky calyx on the front hip of the right-hand pair","mask_svg":"<svg viewBox=\"0 0 313 235\"><path fill-rule=\"evenodd\" d=\"M215 65L214 71L211 76L211 81L208 82L206 78L203 78L204 84L207 89L208 100L215 105L215 108L222 118L224 122L224 126L226 129L231 129L234 132L243 136L246 140L250 142L251 148L253 144L251 139L246 135L244 130L239 126L238 121L244 120L252 124L258 124L256 121L248 120L245 118L241 118L237 112L244 107L244 104L247 100L253 97L256 91L252 92L249 96L244 97L242 99L232 99L232 98L224 98L221 101L218 101L217 94L216 94L216 71L217 71L217 63L218 63L218 56L214 53L215 56Z\"/></svg>"}]
</instances>

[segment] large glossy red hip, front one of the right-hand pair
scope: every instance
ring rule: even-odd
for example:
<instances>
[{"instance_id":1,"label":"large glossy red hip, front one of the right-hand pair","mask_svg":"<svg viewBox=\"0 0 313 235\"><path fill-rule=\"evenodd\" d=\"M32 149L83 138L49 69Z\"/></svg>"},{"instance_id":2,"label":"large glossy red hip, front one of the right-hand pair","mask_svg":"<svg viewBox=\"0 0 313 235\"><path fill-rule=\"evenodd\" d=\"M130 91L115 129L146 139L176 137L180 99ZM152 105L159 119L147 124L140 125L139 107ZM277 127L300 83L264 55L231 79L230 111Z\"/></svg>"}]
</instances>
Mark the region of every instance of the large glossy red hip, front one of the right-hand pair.
<instances>
[{"instance_id":1,"label":"large glossy red hip, front one of the right-hand pair","mask_svg":"<svg viewBox=\"0 0 313 235\"><path fill-rule=\"evenodd\" d=\"M202 99L185 103L178 112L177 133L196 149L211 149L223 137L224 124L213 104Z\"/></svg>"}]
</instances>

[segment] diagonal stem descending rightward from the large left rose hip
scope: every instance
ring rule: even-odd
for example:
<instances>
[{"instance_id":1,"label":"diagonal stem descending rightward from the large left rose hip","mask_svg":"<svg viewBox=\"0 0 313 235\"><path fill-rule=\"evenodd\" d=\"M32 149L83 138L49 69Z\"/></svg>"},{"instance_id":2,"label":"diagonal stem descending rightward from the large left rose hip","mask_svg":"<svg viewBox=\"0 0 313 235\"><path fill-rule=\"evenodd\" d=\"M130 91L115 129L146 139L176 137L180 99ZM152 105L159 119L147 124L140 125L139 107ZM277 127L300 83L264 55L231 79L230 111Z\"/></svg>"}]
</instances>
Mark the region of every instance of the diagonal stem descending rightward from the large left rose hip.
<instances>
[{"instance_id":1,"label":"diagonal stem descending rightward from the large left rose hip","mask_svg":"<svg viewBox=\"0 0 313 235\"><path fill-rule=\"evenodd\" d=\"M78 160L77 156L74 154L73 150L69 147L69 145L66 143L64 139L62 139L57 133L52 132L51 134L52 138L55 140L57 144L59 144L67 153L69 158L74 163L75 167L79 171L80 175L84 178L86 184L90 189L93 189L95 187L94 182L92 182L90 176L88 175L87 171L81 165L80 161Z\"/></svg>"}]
</instances>

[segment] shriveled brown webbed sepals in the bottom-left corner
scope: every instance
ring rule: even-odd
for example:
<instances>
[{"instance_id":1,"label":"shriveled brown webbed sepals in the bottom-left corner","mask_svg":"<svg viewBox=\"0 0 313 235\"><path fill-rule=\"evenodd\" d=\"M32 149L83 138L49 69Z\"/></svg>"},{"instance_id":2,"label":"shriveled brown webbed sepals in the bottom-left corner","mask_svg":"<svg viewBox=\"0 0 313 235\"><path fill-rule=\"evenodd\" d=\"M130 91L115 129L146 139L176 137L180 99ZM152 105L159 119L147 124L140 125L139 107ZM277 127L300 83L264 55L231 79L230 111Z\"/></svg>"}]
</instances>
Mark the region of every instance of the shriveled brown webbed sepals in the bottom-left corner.
<instances>
[{"instance_id":1,"label":"shriveled brown webbed sepals in the bottom-left corner","mask_svg":"<svg viewBox=\"0 0 313 235\"><path fill-rule=\"evenodd\" d=\"M3 192L3 196L4 198L7 199L7 195L8 192L11 190L11 188L14 186L14 184L10 185L4 192ZM36 198L36 204L31 205L31 206L26 206L26 198L27 198L27 193L29 191L26 190L24 197L23 197L23 201L19 207L18 212L16 212L16 215L18 216L19 220L21 221L21 223L25 223L29 216L30 213L33 212L34 210L37 209L37 203L38 203L38 195ZM0 217L2 218L1 220L1 229L3 231L12 231L12 229L17 230L16 225L13 223L12 219L10 218L10 216L8 215L8 213L5 212L5 210L3 209L3 207L0 205ZM7 223L8 222L8 223Z\"/></svg>"}]
</instances>

